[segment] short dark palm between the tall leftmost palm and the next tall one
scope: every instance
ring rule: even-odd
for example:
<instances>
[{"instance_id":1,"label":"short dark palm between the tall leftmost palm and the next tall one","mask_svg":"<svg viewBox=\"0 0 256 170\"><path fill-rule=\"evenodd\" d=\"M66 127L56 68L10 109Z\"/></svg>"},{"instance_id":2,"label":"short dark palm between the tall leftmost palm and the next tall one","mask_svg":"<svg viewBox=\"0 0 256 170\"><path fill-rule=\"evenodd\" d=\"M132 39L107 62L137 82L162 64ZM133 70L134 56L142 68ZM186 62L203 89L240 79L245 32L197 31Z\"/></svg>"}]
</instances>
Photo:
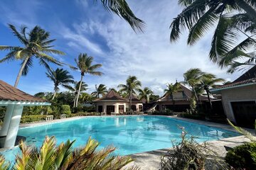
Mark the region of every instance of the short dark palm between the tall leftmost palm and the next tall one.
<instances>
[{"instance_id":1,"label":"short dark palm between the tall leftmost palm and the next tall one","mask_svg":"<svg viewBox=\"0 0 256 170\"><path fill-rule=\"evenodd\" d=\"M52 100L55 98L59 88L58 86L63 86L66 89L70 89L69 84L73 84L75 81L73 80L73 76L69 74L67 70L64 69L49 69L46 73L47 77L53 81L54 83L54 94Z\"/></svg>"}]
</instances>

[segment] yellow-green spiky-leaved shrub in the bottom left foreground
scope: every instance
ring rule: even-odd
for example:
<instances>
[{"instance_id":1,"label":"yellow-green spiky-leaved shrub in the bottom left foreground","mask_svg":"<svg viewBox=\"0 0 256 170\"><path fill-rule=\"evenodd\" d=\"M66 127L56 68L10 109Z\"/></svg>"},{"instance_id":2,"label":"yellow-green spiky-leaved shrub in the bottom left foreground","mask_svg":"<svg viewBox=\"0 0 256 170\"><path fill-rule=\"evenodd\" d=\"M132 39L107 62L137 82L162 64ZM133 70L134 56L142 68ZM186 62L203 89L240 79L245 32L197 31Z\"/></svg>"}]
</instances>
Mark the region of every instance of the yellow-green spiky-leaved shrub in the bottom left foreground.
<instances>
[{"instance_id":1,"label":"yellow-green spiky-leaved shrub in the bottom left foreground","mask_svg":"<svg viewBox=\"0 0 256 170\"><path fill-rule=\"evenodd\" d=\"M112 153L114 147L106 147L97 151L99 142L89 138L85 147L73 149L74 141L68 140L56 146L55 137L46 137L40 149L26 146L21 142L19 145L21 154L16 155L16 162L10 164L4 157L0 157L0 169L122 169L125 165L133 162L130 157L116 157ZM132 167L132 169L138 169Z\"/></svg>"}]
</instances>

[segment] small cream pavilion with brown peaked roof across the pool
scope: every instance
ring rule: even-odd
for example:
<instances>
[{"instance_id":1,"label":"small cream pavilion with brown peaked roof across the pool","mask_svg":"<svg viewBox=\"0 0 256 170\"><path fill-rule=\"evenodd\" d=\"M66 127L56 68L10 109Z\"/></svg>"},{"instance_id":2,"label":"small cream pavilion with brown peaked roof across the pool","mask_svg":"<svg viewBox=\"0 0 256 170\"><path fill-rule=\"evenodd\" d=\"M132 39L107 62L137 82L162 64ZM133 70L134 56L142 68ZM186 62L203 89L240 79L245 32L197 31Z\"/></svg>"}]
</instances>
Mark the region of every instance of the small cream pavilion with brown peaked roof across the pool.
<instances>
[{"instance_id":1,"label":"small cream pavilion with brown peaked roof across the pool","mask_svg":"<svg viewBox=\"0 0 256 170\"><path fill-rule=\"evenodd\" d=\"M95 103L97 112L103 112L107 114L114 112L122 114L127 112L127 108L129 108L129 98L122 98L115 91L111 90L102 98L97 98L95 101L92 102ZM143 110L142 101L140 101L134 95L132 95L132 110Z\"/></svg>"}]
</instances>

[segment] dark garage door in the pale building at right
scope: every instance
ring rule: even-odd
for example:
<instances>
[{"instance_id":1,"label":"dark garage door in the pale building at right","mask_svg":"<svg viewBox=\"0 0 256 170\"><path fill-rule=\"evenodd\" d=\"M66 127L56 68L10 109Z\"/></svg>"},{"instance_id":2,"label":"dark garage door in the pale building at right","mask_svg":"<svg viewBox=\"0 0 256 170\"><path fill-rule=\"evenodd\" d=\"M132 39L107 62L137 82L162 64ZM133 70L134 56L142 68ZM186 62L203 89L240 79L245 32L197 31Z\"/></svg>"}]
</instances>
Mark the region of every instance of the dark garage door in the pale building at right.
<instances>
[{"instance_id":1,"label":"dark garage door in the pale building at right","mask_svg":"<svg viewBox=\"0 0 256 170\"><path fill-rule=\"evenodd\" d=\"M255 101L231 102L235 120L239 126L254 128L256 119Z\"/></svg>"}]
</instances>

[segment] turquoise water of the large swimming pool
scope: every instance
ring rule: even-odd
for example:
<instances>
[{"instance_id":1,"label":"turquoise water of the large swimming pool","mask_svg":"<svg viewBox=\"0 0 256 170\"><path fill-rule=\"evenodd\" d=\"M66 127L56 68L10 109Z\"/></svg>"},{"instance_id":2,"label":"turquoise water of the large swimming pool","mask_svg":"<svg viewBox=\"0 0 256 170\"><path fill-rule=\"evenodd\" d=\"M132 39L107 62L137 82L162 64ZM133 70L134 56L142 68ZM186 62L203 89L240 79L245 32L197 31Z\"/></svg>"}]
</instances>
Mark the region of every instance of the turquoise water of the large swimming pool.
<instances>
[{"instance_id":1,"label":"turquoise water of the large swimming pool","mask_svg":"<svg viewBox=\"0 0 256 170\"><path fill-rule=\"evenodd\" d=\"M28 145L36 147L42 145L46 135L55 136L58 144L68 139L75 140L75 147L85 145L91 136L101 143L100 148L114 145L117 147L116 154L127 155L172 147L172 142L181 140L179 127L185 128L189 135L198 137L198 142L238 136L238 133L228 130L163 116L80 118L21 128L18 135L26 137ZM16 152L18 148L2 154L12 160Z\"/></svg>"}]
</instances>

